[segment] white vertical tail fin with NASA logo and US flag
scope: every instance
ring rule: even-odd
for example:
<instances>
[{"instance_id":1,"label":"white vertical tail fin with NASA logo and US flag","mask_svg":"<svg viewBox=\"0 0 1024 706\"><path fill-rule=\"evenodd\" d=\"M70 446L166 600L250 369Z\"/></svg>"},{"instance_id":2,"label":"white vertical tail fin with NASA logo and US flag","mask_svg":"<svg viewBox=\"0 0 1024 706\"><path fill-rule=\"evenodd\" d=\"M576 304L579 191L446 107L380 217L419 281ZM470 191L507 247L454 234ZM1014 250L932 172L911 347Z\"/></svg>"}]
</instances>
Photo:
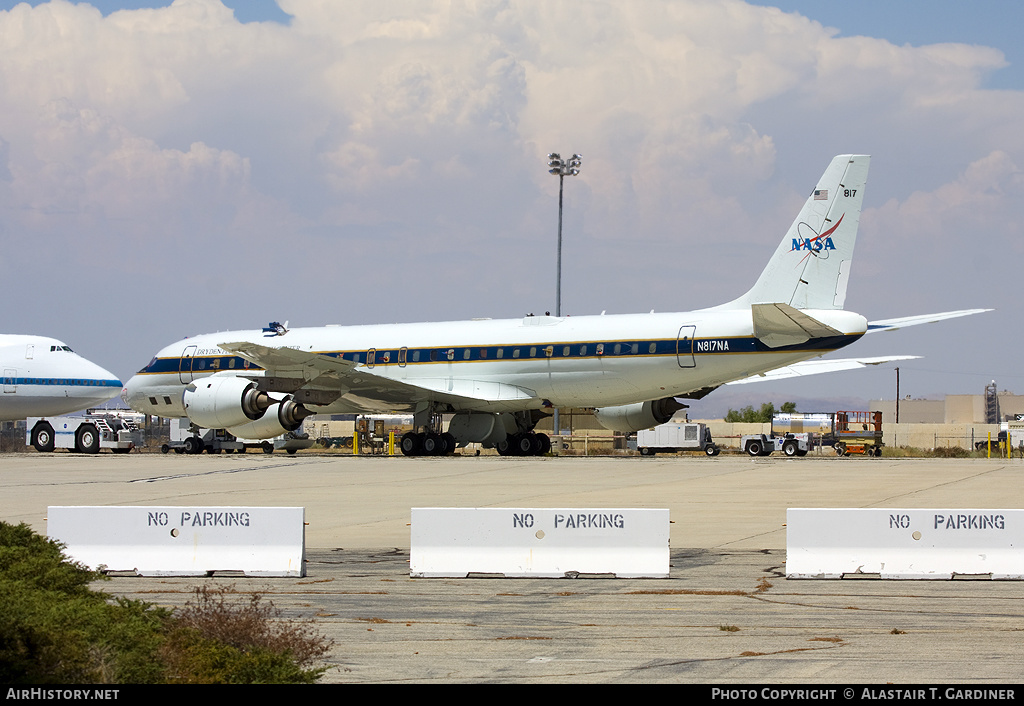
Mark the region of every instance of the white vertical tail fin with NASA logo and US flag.
<instances>
[{"instance_id":1,"label":"white vertical tail fin with NASA logo and US flag","mask_svg":"<svg viewBox=\"0 0 1024 706\"><path fill-rule=\"evenodd\" d=\"M867 155L833 159L757 283L721 308L843 308L869 162Z\"/></svg>"}]
</instances>

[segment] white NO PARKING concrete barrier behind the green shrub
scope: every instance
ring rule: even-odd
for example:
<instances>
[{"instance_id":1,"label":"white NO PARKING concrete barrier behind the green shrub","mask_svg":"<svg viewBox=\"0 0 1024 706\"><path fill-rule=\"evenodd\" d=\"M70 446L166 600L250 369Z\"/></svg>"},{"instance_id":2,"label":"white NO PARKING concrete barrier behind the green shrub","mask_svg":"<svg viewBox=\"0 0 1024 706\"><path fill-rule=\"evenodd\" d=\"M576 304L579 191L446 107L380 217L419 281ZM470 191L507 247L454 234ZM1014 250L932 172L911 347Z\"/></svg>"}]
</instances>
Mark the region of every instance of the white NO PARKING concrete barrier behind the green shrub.
<instances>
[{"instance_id":1,"label":"white NO PARKING concrete barrier behind the green shrub","mask_svg":"<svg viewBox=\"0 0 1024 706\"><path fill-rule=\"evenodd\" d=\"M90 569L138 576L305 576L303 507L51 506L47 530Z\"/></svg>"}]
</instances>

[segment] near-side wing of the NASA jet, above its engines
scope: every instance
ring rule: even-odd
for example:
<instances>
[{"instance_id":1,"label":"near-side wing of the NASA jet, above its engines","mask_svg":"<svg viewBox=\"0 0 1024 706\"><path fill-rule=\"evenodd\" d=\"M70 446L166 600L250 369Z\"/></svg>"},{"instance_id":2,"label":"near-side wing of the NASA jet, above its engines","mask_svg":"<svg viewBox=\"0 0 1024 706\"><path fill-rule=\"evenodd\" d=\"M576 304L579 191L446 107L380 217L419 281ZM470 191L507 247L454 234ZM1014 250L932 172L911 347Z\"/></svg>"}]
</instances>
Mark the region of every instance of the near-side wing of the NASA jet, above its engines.
<instances>
[{"instance_id":1,"label":"near-side wing of the NASA jet, above its engines","mask_svg":"<svg viewBox=\"0 0 1024 706\"><path fill-rule=\"evenodd\" d=\"M537 399L530 389L503 382L438 377L417 378L413 384L378 374L362 364L318 352L274 348L249 341L220 343L219 346L263 368L265 373L260 377L268 391L301 391L305 394L298 398L314 405L348 398L361 406L377 403L382 410L403 409L428 401L445 402L459 410L501 411L508 403ZM395 370L393 366L388 368ZM316 394L317 391L321 393Z\"/></svg>"}]
</instances>

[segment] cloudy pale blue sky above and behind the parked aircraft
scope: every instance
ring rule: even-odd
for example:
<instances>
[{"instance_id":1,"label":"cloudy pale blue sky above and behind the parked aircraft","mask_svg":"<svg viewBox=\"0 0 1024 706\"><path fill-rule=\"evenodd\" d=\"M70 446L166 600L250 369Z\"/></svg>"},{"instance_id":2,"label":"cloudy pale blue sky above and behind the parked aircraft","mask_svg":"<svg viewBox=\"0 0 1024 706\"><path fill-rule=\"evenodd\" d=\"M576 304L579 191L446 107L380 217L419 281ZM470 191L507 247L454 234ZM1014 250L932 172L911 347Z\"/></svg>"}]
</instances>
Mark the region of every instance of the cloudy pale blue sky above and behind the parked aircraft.
<instances>
[{"instance_id":1,"label":"cloudy pale blue sky above and behind the parked aircraft","mask_svg":"<svg viewBox=\"0 0 1024 706\"><path fill-rule=\"evenodd\" d=\"M0 3L5 330L123 378L175 339L271 320L553 308L552 151L584 155L563 310L715 305L831 157L866 153L847 306L998 312L848 352L925 356L901 365L915 397L1024 393L1021 3L31 5ZM745 385L694 414L861 407L894 383Z\"/></svg>"}]
</instances>

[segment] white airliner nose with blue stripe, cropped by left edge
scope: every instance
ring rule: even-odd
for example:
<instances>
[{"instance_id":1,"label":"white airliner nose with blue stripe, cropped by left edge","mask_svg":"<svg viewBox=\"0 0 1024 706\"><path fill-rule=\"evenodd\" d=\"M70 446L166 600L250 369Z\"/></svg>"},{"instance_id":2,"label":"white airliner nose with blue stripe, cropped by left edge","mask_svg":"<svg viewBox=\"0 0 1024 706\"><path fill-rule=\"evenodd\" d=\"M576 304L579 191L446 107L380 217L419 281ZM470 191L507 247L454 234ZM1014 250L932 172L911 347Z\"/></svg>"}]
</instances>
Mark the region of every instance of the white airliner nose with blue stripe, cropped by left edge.
<instances>
[{"instance_id":1,"label":"white airliner nose with blue stripe, cropped by left edge","mask_svg":"<svg viewBox=\"0 0 1024 706\"><path fill-rule=\"evenodd\" d=\"M101 405L121 391L114 373L56 338L0 334L0 421L66 414Z\"/></svg>"}]
</instances>

